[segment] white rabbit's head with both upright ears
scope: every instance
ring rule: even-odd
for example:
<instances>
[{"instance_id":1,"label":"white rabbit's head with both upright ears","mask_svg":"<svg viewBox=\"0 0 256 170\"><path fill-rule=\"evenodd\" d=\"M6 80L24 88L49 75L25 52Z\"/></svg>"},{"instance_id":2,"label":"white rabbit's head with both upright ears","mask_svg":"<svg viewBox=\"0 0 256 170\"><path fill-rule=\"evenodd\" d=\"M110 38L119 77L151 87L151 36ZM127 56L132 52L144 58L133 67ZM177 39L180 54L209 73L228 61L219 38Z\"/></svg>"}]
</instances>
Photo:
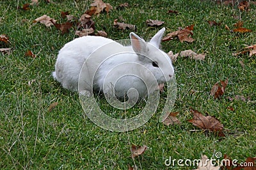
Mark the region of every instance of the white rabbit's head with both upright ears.
<instances>
[{"instance_id":1,"label":"white rabbit's head with both upright ears","mask_svg":"<svg viewBox=\"0 0 256 170\"><path fill-rule=\"evenodd\" d=\"M144 41L134 32L130 34L132 50L138 54L140 64L154 74L158 84L171 80L174 74L172 60L159 49L164 31L164 28L158 31L149 42ZM148 71L144 71L142 74L146 78L152 79L147 77Z\"/></svg>"}]
</instances>

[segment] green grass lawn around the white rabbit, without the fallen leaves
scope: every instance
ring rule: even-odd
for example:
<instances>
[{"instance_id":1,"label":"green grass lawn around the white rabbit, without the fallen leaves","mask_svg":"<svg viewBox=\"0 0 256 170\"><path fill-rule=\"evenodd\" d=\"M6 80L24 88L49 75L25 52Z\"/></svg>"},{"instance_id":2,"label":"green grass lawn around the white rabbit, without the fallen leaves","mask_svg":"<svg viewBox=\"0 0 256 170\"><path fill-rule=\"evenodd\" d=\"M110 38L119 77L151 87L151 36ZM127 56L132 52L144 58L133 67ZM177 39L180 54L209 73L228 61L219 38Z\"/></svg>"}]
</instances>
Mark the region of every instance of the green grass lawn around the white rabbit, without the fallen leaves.
<instances>
[{"instance_id":1,"label":"green grass lawn around the white rabbit, without the fallen leaves","mask_svg":"<svg viewBox=\"0 0 256 170\"><path fill-rule=\"evenodd\" d=\"M1 48L12 47L10 55L0 56L0 168L1 169L171 169L164 165L173 159L200 159L200 154L211 157L215 152L227 153L232 159L243 162L256 153L256 59L255 55L232 56L244 45L255 44L256 6L250 11L239 11L236 6L218 5L212 1L104 1L116 7L128 2L130 8L113 10L109 14L93 16L97 30L105 29L111 39L129 38L129 30L113 28L118 17L138 27L138 35L150 39L159 28L147 27L149 18L163 20L167 31L195 24L193 43L180 43L177 39L163 42L163 50L180 52L191 49L205 53L205 61L179 58L175 63L177 99L173 111L179 111L180 125L166 126L158 122L161 109L139 129L129 132L110 132L83 117L79 96L61 88L51 72L58 50L76 38L75 30L60 34L54 27L33 24L44 14L64 22L61 11L81 16L91 1L40 1L31 10L17 10L30 1L0 2L0 34L10 37L10 44L0 43ZM170 15L177 10L179 15ZM246 34L228 32L240 16L244 27L253 32ZM206 20L222 22L220 27L210 27ZM26 57L27 50L36 58ZM244 69L239 64L244 62ZM212 85L228 78L224 96L214 100L209 96ZM29 81L35 80L31 85ZM191 94L191 90L195 90ZM243 95L250 101L228 101L227 97ZM164 94L162 95L162 97ZM108 114L115 110L104 99L100 103ZM58 102L51 112L49 104ZM143 103L131 110L140 110ZM160 104L161 106L161 104ZM234 111L227 110L232 106ZM104 108L102 107L102 108ZM225 127L225 138L198 130L186 120L193 116L192 107L215 116ZM123 113L124 111L120 111ZM115 114L115 113L114 113ZM115 115L116 116L116 115ZM148 150L131 159L130 147L147 145ZM179 167L176 169L193 169Z\"/></svg>"}]
</instances>

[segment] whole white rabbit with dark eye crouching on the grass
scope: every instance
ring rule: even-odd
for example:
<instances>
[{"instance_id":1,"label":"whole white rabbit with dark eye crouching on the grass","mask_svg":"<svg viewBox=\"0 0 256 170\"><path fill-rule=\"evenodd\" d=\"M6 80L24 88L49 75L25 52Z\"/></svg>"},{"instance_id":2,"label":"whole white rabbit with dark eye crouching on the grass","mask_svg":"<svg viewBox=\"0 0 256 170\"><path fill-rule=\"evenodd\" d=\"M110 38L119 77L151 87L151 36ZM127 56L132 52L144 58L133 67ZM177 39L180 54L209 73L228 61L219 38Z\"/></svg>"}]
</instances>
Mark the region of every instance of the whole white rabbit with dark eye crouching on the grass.
<instances>
[{"instance_id":1,"label":"whole white rabbit with dark eye crouching on the grass","mask_svg":"<svg viewBox=\"0 0 256 170\"><path fill-rule=\"evenodd\" d=\"M74 39L61 48L52 75L72 91L114 91L113 96L124 97L129 89L136 89L138 97L145 97L174 74L172 61L159 50L164 31L149 42L131 32L131 46L100 36Z\"/></svg>"}]
</instances>

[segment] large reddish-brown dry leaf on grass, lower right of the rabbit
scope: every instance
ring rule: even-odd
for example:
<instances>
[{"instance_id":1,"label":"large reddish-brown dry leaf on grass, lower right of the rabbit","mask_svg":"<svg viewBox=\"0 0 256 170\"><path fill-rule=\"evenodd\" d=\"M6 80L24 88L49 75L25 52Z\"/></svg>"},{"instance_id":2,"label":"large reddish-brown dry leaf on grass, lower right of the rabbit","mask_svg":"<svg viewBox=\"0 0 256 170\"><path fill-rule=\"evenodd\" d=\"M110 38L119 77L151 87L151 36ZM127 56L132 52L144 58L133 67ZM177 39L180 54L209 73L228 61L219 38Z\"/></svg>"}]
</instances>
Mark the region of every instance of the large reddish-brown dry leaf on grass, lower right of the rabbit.
<instances>
[{"instance_id":1,"label":"large reddish-brown dry leaf on grass, lower right of the rabbit","mask_svg":"<svg viewBox=\"0 0 256 170\"><path fill-rule=\"evenodd\" d=\"M223 134L224 126L217 118L211 116L205 117L202 113L197 110L193 110L192 108L191 113L193 113L193 119L188 120L188 122L191 122L200 129L218 132L218 136L225 136L225 134Z\"/></svg>"}]
</instances>

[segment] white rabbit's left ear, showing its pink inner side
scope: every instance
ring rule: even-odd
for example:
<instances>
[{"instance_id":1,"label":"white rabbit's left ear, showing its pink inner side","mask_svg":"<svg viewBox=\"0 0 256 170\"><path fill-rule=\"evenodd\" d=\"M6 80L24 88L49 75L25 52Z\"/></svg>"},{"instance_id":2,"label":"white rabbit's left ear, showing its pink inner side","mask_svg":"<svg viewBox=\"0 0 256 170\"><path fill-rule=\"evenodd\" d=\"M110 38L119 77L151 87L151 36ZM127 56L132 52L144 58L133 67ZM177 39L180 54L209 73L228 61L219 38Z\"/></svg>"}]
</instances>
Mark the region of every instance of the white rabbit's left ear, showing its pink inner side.
<instances>
[{"instance_id":1,"label":"white rabbit's left ear, showing its pink inner side","mask_svg":"<svg viewBox=\"0 0 256 170\"><path fill-rule=\"evenodd\" d=\"M147 43L144 39L137 36L134 32L130 33L132 49L136 53L145 53L148 51Z\"/></svg>"}]
</instances>

